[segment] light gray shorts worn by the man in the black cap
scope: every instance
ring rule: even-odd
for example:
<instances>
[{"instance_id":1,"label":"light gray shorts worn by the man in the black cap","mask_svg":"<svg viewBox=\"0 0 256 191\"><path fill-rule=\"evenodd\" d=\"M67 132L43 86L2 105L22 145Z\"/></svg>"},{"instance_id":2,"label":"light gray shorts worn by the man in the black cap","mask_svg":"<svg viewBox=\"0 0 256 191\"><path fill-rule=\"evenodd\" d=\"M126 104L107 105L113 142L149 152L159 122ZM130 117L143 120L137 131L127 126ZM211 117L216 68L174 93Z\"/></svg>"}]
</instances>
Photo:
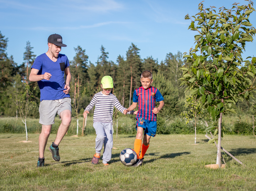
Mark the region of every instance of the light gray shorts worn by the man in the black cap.
<instances>
[{"instance_id":1,"label":"light gray shorts worn by the man in the black cap","mask_svg":"<svg viewBox=\"0 0 256 191\"><path fill-rule=\"evenodd\" d=\"M54 124L56 113L60 115L64 110L72 111L71 99L69 97L61 100L42 100L39 106L39 123L42 125Z\"/></svg>"}]
</instances>

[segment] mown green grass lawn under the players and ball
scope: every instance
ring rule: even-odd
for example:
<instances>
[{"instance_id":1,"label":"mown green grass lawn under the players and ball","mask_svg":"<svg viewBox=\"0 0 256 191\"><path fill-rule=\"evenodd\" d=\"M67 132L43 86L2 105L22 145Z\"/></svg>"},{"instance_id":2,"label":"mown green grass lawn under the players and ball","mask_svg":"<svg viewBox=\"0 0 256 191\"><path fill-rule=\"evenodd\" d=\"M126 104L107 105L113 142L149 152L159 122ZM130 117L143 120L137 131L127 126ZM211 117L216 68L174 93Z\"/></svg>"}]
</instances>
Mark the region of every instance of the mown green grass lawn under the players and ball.
<instances>
[{"instance_id":1,"label":"mown green grass lawn under the players and ball","mask_svg":"<svg viewBox=\"0 0 256 191\"><path fill-rule=\"evenodd\" d=\"M0 190L256 190L256 139L227 135L222 147L237 157L240 165L224 156L224 169L205 168L216 163L217 148L204 135L157 135L152 137L143 166L125 167L119 160L124 148L133 148L134 135L114 136L110 165L91 164L95 135L65 136L60 144L60 162L52 160L48 147L45 167L36 168L38 136L23 143L22 134L0 134Z\"/></svg>"}]
</instances>

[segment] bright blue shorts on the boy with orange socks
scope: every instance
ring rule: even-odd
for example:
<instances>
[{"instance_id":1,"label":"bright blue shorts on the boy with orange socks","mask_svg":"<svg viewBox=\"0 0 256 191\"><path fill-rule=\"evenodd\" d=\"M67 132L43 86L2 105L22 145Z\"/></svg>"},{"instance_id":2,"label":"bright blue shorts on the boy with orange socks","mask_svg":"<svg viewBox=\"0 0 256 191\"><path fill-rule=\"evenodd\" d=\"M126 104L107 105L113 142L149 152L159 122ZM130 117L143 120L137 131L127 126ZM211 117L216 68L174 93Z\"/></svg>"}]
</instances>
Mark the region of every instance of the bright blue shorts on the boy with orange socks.
<instances>
[{"instance_id":1,"label":"bright blue shorts on the boy with orange socks","mask_svg":"<svg viewBox=\"0 0 256 191\"><path fill-rule=\"evenodd\" d=\"M157 133L157 121L148 121L144 118L137 118L136 130L138 127L142 127L144 129L144 135L154 137Z\"/></svg>"}]
</instances>

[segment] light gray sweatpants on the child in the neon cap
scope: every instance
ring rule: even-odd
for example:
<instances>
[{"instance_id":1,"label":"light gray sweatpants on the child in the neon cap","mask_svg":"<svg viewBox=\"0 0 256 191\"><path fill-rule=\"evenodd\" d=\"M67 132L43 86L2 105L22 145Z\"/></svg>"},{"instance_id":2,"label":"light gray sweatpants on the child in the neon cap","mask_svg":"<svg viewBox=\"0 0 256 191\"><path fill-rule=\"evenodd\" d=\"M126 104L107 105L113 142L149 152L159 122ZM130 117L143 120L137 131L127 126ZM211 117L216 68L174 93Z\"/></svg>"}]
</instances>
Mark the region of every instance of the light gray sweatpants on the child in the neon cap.
<instances>
[{"instance_id":1,"label":"light gray sweatpants on the child in the neon cap","mask_svg":"<svg viewBox=\"0 0 256 191\"><path fill-rule=\"evenodd\" d=\"M95 150L96 153L101 153L102 145L104 151L102 163L106 164L111 159L113 148L113 126L112 123L94 122L93 127L96 131Z\"/></svg>"}]
</instances>

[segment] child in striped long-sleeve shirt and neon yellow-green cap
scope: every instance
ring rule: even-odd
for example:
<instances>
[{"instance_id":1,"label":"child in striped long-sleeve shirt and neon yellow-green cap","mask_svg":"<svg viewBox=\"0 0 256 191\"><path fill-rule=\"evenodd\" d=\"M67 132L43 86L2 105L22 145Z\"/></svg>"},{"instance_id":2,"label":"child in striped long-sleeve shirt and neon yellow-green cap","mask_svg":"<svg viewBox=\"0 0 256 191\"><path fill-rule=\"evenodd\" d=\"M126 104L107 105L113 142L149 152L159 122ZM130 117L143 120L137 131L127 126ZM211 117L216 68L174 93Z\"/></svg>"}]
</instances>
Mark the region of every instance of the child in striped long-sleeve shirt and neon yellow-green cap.
<instances>
[{"instance_id":1,"label":"child in striped long-sleeve shirt and neon yellow-green cap","mask_svg":"<svg viewBox=\"0 0 256 191\"><path fill-rule=\"evenodd\" d=\"M99 157L101 155L102 145L104 144L104 151L102 157L102 163L108 165L108 161L111 159L113 148L113 110L114 106L118 111L124 114L136 114L137 112L127 112L116 96L110 93L113 88L113 79L110 76L104 76L101 79L102 91L96 93L93 96L90 104L85 108L83 116L87 117L87 114L91 109L94 109L93 113L93 127L96 131L95 150L96 153L93 156L91 163L98 164Z\"/></svg>"}]
</instances>

